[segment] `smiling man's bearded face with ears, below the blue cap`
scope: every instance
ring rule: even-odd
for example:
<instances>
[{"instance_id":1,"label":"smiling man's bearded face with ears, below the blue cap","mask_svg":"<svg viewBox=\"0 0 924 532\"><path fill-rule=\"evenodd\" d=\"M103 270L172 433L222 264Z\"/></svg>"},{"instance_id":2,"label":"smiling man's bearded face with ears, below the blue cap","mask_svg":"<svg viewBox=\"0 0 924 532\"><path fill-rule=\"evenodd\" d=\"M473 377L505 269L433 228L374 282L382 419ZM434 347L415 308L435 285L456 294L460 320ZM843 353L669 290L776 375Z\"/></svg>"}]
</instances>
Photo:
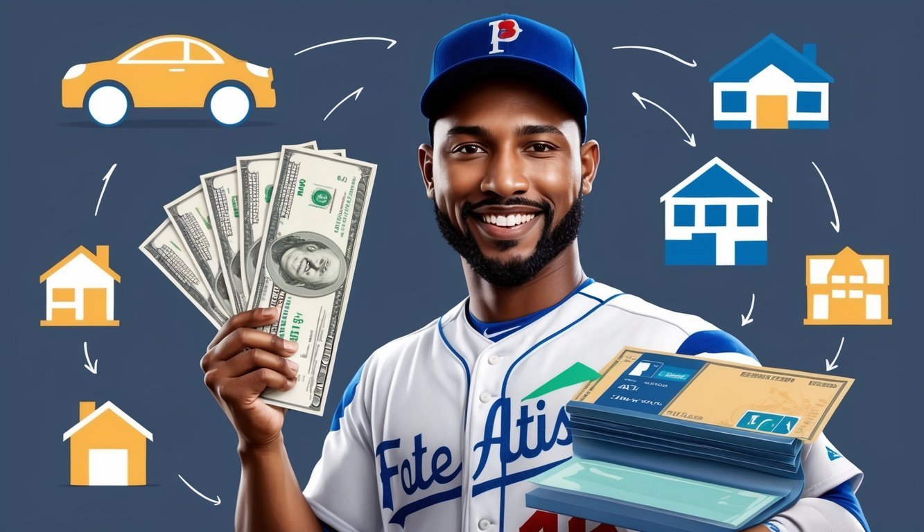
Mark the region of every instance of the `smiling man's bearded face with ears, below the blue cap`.
<instances>
[{"instance_id":1,"label":"smiling man's bearded face with ears, below the blue cap","mask_svg":"<svg viewBox=\"0 0 924 532\"><path fill-rule=\"evenodd\" d=\"M577 236L588 168L575 118L516 82L460 98L421 148L421 170L449 244L492 284L523 284ZM425 153L427 151L428 153ZM428 179L427 157L432 153Z\"/></svg>"}]
</instances>

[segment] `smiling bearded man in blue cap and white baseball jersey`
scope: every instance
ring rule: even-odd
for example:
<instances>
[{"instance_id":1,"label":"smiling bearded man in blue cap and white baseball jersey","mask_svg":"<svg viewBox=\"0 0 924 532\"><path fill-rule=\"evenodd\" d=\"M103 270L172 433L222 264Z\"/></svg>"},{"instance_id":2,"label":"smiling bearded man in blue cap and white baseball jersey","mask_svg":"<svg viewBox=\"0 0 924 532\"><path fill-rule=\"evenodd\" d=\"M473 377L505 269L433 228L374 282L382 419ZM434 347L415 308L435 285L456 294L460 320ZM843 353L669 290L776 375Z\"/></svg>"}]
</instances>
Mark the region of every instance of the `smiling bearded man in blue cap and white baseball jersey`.
<instances>
[{"instance_id":1,"label":"smiling bearded man in blue cap and white baseball jersey","mask_svg":"<svg viewBox=\"0 0 924 532\"><path fill-rule=\"evenodd\" d=\"M503 15L437 44L421 103L419 166L468 297L376 350L347 386L304 493L267 386L288 389L294 345L225 324L202 358L239 436L239 530L607 532L530 509L529 478L571 456L565 404L626 345L757 364L698 317L590 279L577 233L600 147L565 34ZM836 456L836 458L833 458ZM862 473L822 435L804 450L803 498L753 530L858 531ZM646 531L653 532L653 531Z\"/></svg>"}]
</instances>

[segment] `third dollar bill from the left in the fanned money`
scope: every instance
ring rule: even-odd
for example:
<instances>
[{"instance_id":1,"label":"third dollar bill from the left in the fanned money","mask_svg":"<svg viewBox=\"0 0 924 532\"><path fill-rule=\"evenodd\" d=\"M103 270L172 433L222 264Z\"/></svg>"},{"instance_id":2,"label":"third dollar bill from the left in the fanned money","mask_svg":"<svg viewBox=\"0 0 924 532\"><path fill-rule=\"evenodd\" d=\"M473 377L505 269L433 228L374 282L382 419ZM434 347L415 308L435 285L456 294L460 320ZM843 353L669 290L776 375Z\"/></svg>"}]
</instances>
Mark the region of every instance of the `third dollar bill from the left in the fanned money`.
<instances>
[{"instance_id":1,"label":"third dollar bill from the left in the fanned money","mask_svg":"<svg viewBox=\"0 0 924 532\"><path fill-rule=\"evenodd\" d=\"M200 175L205 203L218 243L218 263L228 285L235 314L247 309L247 288L240 271L240 224L237 194L237 166Z\"/></svg>"}]
</instances>

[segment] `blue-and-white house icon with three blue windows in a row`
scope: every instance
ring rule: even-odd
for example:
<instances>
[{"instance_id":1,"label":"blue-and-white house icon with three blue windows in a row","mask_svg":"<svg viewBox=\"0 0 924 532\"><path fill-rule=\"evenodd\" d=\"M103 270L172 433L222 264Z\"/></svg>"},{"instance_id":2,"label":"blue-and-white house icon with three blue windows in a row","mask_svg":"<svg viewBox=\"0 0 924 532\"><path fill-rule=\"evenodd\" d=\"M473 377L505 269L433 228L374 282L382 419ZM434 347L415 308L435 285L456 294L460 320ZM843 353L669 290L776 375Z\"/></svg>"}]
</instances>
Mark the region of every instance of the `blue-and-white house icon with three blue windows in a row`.
<instances>
[{"instance_id":1,"label":"blue-and-white house icon with three blue windows in a row","mask_svg":"<svg viewBox=\"0 0 924 532\"><path fill-rule=\"evenodd\" d=\"M715 157L661 197L668 266L767 264L773 199Z\"/></svg>"}]
</instances>

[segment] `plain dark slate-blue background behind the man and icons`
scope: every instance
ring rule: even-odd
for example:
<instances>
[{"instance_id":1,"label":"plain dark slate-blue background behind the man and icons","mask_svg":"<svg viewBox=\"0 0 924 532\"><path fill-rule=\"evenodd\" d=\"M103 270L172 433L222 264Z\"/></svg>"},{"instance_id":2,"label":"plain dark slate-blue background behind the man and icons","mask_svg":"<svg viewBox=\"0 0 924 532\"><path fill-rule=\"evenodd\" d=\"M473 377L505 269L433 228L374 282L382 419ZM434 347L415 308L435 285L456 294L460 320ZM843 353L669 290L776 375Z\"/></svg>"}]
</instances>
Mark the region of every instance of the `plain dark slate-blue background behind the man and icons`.
<instances>
[{"instance_id":1,"label":"plain dark slate-blue background behind the man and icons","mask_svg":"<svg viewBox=\"0 0 924 532\"><path fill-rule=\"evenodd\" d=\"M5 251L2 379L5 530L228 530L237 438L202 384L212 326L137 249L164 220L161 206L237 155L317 139L379 164L369 220L325 416L289 414L286 446L299 481L320 455L336 399L379 345L417 329L466 296L458 257L432 221L417 168L427 139L419 115L432 47L445 32L495 15L498 3L5 2L0 7L0 107ZM867 474L859 499L874 529L916 526L922 496L920 379L922 10L913 2L507 2L503 9L570 34L590 94L590 138L602 164L580 236L585 270L736 334L769 366L824 371L842 336L839 375L855 387L826 430ZM775 32L818 43L831 88L827 131L734 131L711 126L709 76ZM91 126L61 107L68 67L109 59L155 35L186 33L273 67L278 105L244 127L201 110L146 111L120 127ZM324 47L358 36L393 38ZM614 51L617 45L660 54ZM364 87L359 101L346 94ZM683 142L660 103L695 133ZM663 265L663 206L676 183L720 156L772 197L766 267ZM819 164L841 218L835 233ZM118 163L99 215L101 179ZM111 246L118 328L40 328L39 275L79 245ZM891 327L807 327L805 256L844 246L889 254ZM754 322L740 326L751 293ZM83 368L82 343L99 359ZM154 434L140 488L72 488L61 435L79 401L113 401ZM213 506L188 490L221 496ZM448 524L447 524L448 525Z\"/></svg>"}]
</instances>

